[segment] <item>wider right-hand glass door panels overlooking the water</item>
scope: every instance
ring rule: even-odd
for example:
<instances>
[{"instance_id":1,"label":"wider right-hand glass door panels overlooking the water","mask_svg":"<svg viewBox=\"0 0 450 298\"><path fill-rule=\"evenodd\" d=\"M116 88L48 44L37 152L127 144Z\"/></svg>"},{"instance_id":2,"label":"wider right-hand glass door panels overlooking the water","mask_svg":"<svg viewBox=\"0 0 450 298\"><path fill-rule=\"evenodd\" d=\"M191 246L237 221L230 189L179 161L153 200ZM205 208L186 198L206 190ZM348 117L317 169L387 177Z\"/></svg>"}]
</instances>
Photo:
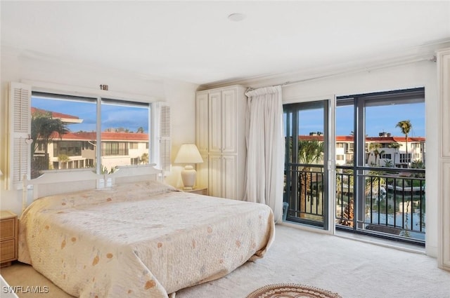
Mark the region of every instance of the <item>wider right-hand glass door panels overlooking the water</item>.
<instances>
[{"instance_id":1,"label":"wider right-hand glass door panels overlooking the water","mask_svg":"<svg viewBox=\"0 0 450 298\"><path fill-rule=\"evenodd\" d=\"M425 89L336 100L336 229L425 243Z\"/></svg>"}]
</instances>

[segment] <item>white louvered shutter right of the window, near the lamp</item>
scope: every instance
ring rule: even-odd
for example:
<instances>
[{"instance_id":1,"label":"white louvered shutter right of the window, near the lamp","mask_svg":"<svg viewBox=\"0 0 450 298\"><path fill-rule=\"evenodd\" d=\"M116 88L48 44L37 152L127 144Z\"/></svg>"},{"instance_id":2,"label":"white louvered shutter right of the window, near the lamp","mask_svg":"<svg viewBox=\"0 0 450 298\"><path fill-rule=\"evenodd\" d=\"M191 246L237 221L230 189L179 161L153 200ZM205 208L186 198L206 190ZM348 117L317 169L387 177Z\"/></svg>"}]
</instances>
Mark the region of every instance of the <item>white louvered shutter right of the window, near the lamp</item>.
<instances>
[{"instance_id":1,"label":"white louvered shutter right of the window, near the lamp","mask_svg":"<svg viewBox=\"0 0 450 298\"><path fill-rule=\"evenodd\" d=\"M155 123L153 142L155 142L154 151L155 162L157 167L169 174L170 172L170 156L172 148L171 140L171 123L170 123L170 107L165 102L155 102L153 104L153 117ZM159 144L159 146L158 146Z\"/></svg>"}]
</instances>

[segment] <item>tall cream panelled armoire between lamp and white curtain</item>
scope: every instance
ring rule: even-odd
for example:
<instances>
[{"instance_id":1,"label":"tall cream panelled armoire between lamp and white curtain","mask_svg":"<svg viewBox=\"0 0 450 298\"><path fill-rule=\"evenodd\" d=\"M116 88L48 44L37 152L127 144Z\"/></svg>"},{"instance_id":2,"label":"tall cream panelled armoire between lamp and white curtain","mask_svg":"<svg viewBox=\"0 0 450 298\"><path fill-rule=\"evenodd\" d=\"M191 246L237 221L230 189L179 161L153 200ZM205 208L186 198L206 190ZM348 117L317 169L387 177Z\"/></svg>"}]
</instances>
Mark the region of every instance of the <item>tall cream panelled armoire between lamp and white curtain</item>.
<instances>
[{"instance_id":1,"label":"tall cream panelled armoire between lamp and white curtain","mask_svg":"<svg viewBox=\"0 0 450 298\"><path fill-rule=\"evenodd\" d=\"M208 195L242 200L245 183L245 111L243 86L198 91L196 142L203 157L197 187Z\"/></svg>"}]
</instances>

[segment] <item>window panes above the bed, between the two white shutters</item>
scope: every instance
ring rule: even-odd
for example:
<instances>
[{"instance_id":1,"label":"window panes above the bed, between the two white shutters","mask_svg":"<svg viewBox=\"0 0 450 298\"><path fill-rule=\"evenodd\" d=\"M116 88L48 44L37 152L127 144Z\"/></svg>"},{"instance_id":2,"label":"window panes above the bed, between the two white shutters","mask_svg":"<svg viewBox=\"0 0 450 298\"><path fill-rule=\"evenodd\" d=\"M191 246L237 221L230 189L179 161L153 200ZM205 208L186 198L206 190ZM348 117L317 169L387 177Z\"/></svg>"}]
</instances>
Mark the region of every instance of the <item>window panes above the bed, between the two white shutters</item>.
<instances>
[{"instance_id":1,"label":"window panes above the bed, between the two white shutters","mask_svg":"<svg viewBox=\"0 0 450 298\"><path fill-rule=\"evenodd\" d=\"M91 166L88 160L98 159L95 157L98 139L101 140L101 168L107 170L132 164L127 141L136 149L139 142L149 142L147 103L32 92L31 111L32 139L42 145L32 145L32 177L39 175L40 170ZM101 123L101 131L97 123ZM37 151L39 147L44 150ZM149 153L145 145L142 148L139 154Z\"/></svg>"}]
</instances>

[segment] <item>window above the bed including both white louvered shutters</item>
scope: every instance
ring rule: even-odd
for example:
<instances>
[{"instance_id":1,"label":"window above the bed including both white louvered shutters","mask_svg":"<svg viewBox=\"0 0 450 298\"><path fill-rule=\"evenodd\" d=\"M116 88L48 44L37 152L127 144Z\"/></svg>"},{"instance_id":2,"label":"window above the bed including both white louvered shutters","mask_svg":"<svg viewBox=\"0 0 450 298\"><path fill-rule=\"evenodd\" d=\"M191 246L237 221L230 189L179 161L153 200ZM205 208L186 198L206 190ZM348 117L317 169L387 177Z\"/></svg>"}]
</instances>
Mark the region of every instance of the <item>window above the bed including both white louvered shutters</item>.
<instances>
[{"instance_id":1,"label":"window above the bed including both white louvered shutters","mask_svg":"<svg viewBox=\"0 0 450 298\"><path fill-rule=\"evenodd\" d=\"M23 83L9 83L8 100L8 189L21 189L25 175L34 178L41 170L99 172L136 161L169 169L170 108L164 102L32 92Z\"/></svg>"}]
</instances>

